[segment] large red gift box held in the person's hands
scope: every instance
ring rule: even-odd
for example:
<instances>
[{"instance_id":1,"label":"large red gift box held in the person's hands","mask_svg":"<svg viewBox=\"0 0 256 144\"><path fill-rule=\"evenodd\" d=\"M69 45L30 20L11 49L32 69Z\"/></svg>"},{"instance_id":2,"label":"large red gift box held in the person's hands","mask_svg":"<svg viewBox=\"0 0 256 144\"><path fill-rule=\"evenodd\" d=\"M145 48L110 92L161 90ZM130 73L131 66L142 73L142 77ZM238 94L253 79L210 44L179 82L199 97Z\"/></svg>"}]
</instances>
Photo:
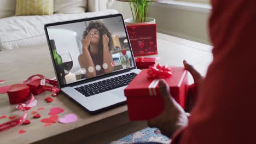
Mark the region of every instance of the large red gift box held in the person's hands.
<instances>
[{"instance_id":1,"label":"large red gift box held in the person's hands","mask_svg":"<svg viewBox=\"0 0 256 144\"><path fill-rule=\"evenodd\" d=\"M131 121L149 120L164 110L164 100L158 85L153 89L149 88L150 84L159 79L148 79L147 71L148 69L143 69L124 90ZM184 109L188 94L188 72L183 67L171 67L171 72L172 76L164 79L170 87L172 97Z\"/></svg>"}]
</instances>

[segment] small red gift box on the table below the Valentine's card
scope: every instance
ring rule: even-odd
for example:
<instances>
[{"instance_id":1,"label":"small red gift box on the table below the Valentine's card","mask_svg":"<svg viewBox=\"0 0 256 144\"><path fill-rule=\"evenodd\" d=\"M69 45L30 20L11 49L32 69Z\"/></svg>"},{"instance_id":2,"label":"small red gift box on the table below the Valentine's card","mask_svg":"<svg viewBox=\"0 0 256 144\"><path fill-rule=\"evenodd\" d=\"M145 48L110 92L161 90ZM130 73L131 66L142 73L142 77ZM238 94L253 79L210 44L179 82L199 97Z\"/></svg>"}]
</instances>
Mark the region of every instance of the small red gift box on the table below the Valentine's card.
<instances>
[{"instance_id":1,"label":"small red gift box on the table below the Valentine's card","mask_svg":"<svg viewBox=\"0 0 256 144\"><path fill-rule=\"evenodd\" d=\"M135 63L138 69L148 69L149 66L155 64L155 61L155 57L138 57L135 59Z\"/></svg>"}]
</instances>

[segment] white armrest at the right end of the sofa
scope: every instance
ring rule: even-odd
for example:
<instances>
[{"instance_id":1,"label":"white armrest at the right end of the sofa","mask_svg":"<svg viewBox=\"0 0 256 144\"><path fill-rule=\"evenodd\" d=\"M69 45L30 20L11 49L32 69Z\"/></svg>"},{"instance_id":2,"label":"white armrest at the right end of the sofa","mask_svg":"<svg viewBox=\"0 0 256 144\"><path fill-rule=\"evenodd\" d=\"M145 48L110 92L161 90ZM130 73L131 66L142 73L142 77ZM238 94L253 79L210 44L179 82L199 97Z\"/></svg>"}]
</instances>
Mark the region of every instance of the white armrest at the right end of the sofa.
<instances>
[{"instance_id":1,"label":"white armrest at the right end of the sofa","mask_svg":"<svg viewBox=\"0 0 256 144\"><path fill-rule=\"evenodd\" d=\"M101 11L106 10L114 0L87 0L87 10L92 11Z\"/></svg>"}]
</instances>

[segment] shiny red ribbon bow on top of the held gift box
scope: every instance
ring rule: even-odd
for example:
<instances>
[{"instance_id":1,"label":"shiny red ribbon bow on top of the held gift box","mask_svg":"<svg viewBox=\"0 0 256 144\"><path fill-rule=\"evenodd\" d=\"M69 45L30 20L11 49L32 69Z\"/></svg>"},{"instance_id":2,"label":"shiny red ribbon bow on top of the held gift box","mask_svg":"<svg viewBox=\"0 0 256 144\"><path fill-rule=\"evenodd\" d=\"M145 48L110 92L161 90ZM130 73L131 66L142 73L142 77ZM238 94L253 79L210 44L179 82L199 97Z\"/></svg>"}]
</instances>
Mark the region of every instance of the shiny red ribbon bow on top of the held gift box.
<instances>
[{"instance_id":1,"label":"shiny red ribbon bow on top of the held gift box","mask_svg":"<svg viewBox=\"0 0 256 144\"><path fill-rule=\"evenodd\" d=\"M172 75L170 68L167 68L166 65L161 66L159 64L150 66L147 73L148 79L164 79Z\"/></svg>"}]
</instances>

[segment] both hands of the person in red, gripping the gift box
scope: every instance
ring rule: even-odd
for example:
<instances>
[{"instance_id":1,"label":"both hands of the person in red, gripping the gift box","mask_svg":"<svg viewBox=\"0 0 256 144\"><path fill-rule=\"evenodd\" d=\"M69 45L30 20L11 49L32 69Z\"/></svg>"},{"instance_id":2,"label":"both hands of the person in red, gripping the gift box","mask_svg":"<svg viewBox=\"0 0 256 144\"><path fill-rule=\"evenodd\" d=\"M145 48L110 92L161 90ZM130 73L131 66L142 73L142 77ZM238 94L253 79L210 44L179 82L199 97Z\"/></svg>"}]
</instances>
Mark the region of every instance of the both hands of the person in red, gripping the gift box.
<instances>
[{"instance_id":1,"label":"both hands of the person in red, gripping the gift box","mask_svg":"<svg viewBox=\"0 0 256 144\"><path fill-rule=\"evenodd\" d=\"M197 91L203 81L203 77L194 67L183 61L185 69L193 76L194 86L189 89L190 95L187 104L190 104L190 109L193 108L197 97ZM148 121L149 127L160 129L161 133L171 137L179 128L185 127L188 124L188 117L182 107L172 98L170 88L164 80L159 81L159 90L164 99L165 109L162 113Z\"/></svg>"}]
</instances>

